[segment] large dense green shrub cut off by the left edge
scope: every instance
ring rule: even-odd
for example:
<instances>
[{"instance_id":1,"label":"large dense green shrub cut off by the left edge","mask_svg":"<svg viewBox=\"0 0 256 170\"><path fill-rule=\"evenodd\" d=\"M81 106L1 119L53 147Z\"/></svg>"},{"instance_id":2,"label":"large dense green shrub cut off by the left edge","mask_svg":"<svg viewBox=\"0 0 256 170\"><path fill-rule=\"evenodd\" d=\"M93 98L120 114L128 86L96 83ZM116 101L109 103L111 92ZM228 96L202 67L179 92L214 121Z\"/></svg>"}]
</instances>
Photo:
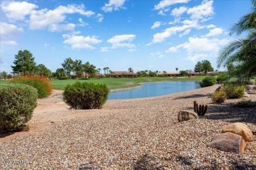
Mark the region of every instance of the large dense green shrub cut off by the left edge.
<instances>
[{"instance_id":1,"label":"large dense green shrub cut off by the left edge","mask_svg":"<svg viewBox=\"0 0 256 170\"><path fill-rule=\"evenodd\" d=\"M20 131L37 107L37 90L26 84L0 86L0 130Z\"/></svg>"}]
</instances>

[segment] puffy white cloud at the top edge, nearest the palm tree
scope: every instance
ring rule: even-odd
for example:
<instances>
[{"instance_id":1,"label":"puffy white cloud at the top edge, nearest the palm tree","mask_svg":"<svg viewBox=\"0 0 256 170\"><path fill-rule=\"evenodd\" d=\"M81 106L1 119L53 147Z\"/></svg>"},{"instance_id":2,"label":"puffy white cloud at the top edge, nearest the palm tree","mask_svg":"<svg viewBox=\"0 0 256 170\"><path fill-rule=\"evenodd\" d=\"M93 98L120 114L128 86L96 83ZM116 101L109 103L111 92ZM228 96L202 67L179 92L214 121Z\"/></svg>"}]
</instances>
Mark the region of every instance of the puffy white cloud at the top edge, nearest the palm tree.
<instances>
[{"instance_id":1,"label":"puffy white cloud at the top edge, nearest the palm tree","mask_svg":"<svg viewBox=\"0 0 256 170\"><path fill-rule=\"evenodd\" d=\"M187 14L191 14L192 20L208 20L210 16L213 16L213 1L203 1L201 5L192 7L187 10Z\"/></svg>"}]
</instances>

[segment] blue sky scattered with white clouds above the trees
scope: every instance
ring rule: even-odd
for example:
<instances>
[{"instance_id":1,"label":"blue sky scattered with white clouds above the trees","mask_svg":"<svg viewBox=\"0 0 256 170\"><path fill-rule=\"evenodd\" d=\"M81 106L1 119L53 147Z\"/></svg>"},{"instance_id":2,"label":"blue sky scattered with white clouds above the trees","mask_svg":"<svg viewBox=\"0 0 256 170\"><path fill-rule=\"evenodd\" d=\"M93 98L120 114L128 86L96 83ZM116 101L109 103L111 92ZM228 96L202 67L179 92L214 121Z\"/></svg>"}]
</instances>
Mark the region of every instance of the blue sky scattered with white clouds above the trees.
<instances>
[{"instance_id":1,"label":"blue sky scattered with white clouds above the trees","mask_svg":"<svg viewBox=\"0 0 256 170\"><path fill-rule=\"evenodd\" d=\"M250 0L3 0L0 71L12 72L18 50L53 72L66 58L112 71L193 70L203 59L217 69L237 38L228 29L249 11Z\"/></svg>"}]
</instances>

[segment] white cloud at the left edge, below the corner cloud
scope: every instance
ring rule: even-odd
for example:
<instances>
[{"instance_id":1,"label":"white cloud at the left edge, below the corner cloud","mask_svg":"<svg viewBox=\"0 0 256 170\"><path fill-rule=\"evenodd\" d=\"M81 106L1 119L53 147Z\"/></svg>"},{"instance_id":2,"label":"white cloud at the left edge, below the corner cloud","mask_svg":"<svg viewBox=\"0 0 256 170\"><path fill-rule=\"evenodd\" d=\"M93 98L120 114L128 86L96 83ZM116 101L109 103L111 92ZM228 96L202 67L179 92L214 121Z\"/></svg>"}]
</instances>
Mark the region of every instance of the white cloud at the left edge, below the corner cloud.
<instances>
[{"instance_id":1,"label":"white cloud at the left edge, below the corner cloud","mask_svg":"<svg viewBox=\"0 0 256 170\"><path fill-rule=\"evenodd\" d=\"M17 42L12 41L13 36L21 35L23 29L13 24L0 22L0 37L1 42L9 45L18 45Z\"/></svg>"}]
</instances>

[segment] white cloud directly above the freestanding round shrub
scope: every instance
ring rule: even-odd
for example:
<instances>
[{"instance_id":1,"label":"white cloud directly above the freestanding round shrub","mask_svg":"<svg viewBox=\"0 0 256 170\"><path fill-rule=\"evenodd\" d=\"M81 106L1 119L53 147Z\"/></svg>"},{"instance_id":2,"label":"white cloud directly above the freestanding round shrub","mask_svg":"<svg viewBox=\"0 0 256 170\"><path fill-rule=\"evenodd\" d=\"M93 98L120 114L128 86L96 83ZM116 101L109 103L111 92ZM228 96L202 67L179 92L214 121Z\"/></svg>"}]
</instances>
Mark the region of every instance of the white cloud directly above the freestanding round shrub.
<instances>
[{"instance_id":1,"label":"white cloud directly above the freestanding round shrub","mask_svg":"<svg viewBox=\"0 0 256 170\"><path fill-rule=\"evenodd\" d=\"M77 48L87 48L87 49L94 49L91 44L98 44L102 42L101 40L97 39L96 36L79 36L79 35L62 35L62 37L65 39L64 44L70 44L73 49Z\"/></svg>"}]
</instances>

